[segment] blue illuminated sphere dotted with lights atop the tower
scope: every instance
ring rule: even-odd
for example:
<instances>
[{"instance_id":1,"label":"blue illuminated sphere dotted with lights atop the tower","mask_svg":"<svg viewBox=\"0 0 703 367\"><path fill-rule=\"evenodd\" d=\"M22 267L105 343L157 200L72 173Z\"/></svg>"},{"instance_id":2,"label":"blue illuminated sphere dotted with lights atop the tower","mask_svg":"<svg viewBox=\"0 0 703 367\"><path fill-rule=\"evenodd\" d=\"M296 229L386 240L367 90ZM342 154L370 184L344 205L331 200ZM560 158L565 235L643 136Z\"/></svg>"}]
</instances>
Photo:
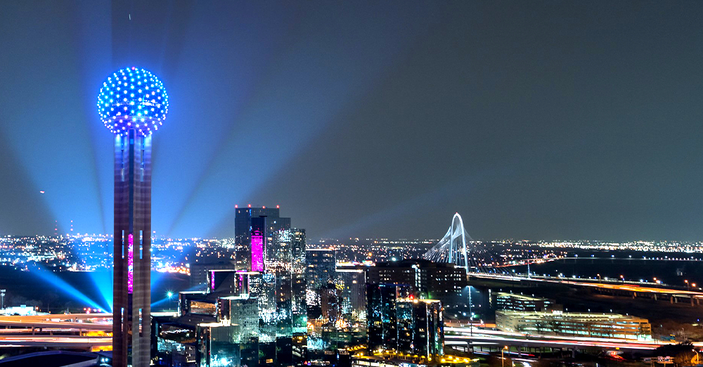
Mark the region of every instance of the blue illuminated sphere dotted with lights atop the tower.
<instances>
[{"instance_id":1,"label":"blue illuminated sphere dotted with lights atop the tower","mask_svg":"<svg viewBox=\"0 0 703 367\"><path fill-rule=\"evenodd\" d=\"M114 134L134 129L147 136L162 127L169 112L164 84L148 70L125 67L103 82L98 94L98 114Z\"/></svg>"}]
</instances>

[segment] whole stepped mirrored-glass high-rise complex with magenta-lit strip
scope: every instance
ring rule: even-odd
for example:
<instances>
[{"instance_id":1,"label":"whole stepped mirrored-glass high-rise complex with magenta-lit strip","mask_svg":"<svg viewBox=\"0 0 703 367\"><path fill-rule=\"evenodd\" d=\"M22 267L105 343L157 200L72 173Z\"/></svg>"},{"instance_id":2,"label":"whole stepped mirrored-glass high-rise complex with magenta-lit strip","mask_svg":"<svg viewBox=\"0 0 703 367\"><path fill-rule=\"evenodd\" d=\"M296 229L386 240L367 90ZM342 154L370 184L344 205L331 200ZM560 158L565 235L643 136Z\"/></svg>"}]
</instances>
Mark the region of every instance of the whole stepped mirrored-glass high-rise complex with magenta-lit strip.
<instances>
[{"instance_id":1,"label":"whole stepped mirrored-glass high-rise complex with magenta-lit strip","mask_svg":"<svg viewBox=\"0 0 703 367\"><path fill-rule=\"evenodd\" d=\"M165 366L302 366L307 349L305 230L278 208L236 210L236 259L202 265L178 316L155 318ZM176 330L176 331L174 331Z\"/></svg>"}]
</instances>

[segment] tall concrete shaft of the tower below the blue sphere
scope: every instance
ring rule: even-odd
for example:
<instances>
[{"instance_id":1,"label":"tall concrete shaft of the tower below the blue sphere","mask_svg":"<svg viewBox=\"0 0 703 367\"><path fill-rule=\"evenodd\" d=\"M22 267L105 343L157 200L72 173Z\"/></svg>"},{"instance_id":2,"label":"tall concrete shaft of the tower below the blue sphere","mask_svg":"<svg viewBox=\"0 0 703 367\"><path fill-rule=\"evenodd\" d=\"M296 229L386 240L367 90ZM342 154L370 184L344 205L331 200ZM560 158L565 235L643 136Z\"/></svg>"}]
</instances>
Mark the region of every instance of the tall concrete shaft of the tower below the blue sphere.
<instances>
[{"instance_id":1,"label":"tall concrete shaft of the tower below the blue sphere","mask_svg":"<svg viewBox=\"0 0 703 367\"><path fill-rule=\"evenodd\" d=\"M151 136L115 136L112 366L150 364ZM131 349L131 363L129 350Z\"/></svg>"}]
</instances>

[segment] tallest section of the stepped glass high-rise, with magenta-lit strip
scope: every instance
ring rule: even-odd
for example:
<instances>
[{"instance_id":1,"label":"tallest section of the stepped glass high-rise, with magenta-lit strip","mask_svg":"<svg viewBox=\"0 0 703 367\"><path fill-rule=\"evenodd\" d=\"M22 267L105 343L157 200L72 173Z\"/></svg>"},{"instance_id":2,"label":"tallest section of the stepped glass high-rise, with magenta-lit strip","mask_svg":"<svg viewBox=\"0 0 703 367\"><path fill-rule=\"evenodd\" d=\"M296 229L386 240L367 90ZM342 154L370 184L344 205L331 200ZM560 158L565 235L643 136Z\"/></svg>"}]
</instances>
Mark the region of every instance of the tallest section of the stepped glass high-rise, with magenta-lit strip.
<instances>
[{"instance_id":1,"label":"tallest section of the stepped glass high-rise, with magenta-lit strip","mask_svg":"<svg viewBox=\"0 0 703 367\"><path fill-rule=\"evenodd\" d=\"M302 366L305 231L291 229L278 208L238 208L236 216L236 262L256 273L250 292L259 302L259 366Z\"/></svg>"}]
</instances>

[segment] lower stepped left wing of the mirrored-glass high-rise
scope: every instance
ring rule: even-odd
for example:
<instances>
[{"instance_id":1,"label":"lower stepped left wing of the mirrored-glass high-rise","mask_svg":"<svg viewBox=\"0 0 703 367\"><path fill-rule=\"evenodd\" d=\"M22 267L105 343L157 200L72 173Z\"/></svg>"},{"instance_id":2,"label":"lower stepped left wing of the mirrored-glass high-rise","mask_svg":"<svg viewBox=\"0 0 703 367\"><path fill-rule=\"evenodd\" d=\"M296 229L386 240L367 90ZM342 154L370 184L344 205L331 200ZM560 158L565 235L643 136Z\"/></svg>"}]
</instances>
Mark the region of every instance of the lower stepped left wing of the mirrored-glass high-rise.
<instances>
[{"instance_id":1,"label":"lower stepped left wing of the mirrored-glass high-rise","mask_svg":"<svg viewBox=\"0 0 703 367\"><path fill-rule=\"evenodd\" d=\"M178 315L154 318L155 364L258 366L259 302L242 286L256 275L207 271L206 290L180 292Z\"/></svg>"}]
</instances>

